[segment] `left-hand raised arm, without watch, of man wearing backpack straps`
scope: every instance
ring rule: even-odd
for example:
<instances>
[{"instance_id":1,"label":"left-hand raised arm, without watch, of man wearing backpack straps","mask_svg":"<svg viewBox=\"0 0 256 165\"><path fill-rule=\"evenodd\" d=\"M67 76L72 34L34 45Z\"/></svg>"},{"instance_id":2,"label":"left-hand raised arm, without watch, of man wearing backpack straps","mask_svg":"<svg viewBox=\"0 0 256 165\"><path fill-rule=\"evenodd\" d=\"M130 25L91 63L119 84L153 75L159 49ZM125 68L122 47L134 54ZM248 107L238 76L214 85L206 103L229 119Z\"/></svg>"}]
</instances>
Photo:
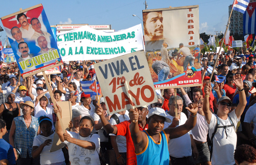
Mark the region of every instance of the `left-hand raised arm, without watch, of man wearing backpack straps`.
<instances>
[{"instance_id":1,"label":"left-hand raised arm, without watch, of man wearing backpack straps","mask_svg":"<svg viewBox=\"0 0 256 165\"><path fill-rule=\"evenodd\" d=\"M212 113L210 111L210 102L209 102L211 91L212 91L212 87L210 87L209 83L206 83L206 85L204 86L205 95L204 95L204 102L203 102L203 111L204 111L204 117L208 124L210 124L210 121L212 118Z\"/></svg>"}]
</instances>

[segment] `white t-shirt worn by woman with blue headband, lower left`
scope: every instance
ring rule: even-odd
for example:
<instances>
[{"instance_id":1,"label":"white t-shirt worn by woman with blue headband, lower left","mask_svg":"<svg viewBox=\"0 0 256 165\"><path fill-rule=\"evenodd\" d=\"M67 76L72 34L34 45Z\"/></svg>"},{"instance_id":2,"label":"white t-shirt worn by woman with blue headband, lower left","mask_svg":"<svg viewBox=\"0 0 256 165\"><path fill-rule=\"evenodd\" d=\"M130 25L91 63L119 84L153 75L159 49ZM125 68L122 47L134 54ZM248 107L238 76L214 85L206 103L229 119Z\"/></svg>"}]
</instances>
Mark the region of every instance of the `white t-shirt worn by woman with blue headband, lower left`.
<instances>
[{"instance_id":1,"label":"white t-shirt worn by woman with blue headband, lower left","mask_svg":"<svg viewBox=\"0 0 256 165\"><path fill-rule=\"evenodd\" d=\"M52 139L52 142L53 142L53 137L54 137L54 133L51 134L49 137L44 137L42 135L38 135L34 139L33 146L39 147L47 139ZM47 164L51 164L51 163L65 161L64 154L61 149L54 151L54 152L50 152L51 148L52 148L52 143L50 145L44 146L44 149L40 154L40 164L41 165L47 165Z\"/></svg>"}]
</instances>

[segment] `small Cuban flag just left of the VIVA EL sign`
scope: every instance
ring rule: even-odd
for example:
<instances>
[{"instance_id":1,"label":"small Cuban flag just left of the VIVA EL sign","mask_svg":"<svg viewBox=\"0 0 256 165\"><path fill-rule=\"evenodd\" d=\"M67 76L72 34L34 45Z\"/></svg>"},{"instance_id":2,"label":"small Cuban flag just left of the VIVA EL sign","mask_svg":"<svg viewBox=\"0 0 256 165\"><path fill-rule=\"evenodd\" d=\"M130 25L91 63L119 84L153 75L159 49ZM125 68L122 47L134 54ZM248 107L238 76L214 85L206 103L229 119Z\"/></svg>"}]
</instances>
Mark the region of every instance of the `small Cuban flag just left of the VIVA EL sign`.
<instances>
[{"instance_id":1,"label":"small Cuban flag just left of the VIVA EL sign","mask_svg":"<svg viewBox=\"0 0 256 165\"><path fill-rule=\"evenodd\" d=\"M97 87L94 82L95 81L80 81L84 94L90 94L91 97L95 96L97 95L96 93L96 88L97 88L98 95L100 95L101 89L99 87L99 82L96 83Z\"/></svg>"}]
</instances>

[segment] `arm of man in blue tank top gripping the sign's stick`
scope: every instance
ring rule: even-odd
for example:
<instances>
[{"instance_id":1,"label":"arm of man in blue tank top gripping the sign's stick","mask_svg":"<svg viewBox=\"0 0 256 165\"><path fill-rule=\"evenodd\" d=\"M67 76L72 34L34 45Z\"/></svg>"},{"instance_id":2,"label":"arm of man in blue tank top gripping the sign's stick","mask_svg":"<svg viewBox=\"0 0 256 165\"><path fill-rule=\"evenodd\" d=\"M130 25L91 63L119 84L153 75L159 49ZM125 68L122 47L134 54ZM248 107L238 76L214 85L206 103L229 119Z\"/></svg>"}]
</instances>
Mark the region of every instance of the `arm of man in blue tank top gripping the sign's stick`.
<instances>
[{"instance_id":1,"label":"arm of man in blue tank top gripping the sign's stick","mask_svg":"<svg viewBox=\"0 0 256 165\"><path fill-rule=\"evenodd\" d=\"M129 117L132 121L129 128L131 132L131 139L134 142L135 153L140 153L147 145L147 135L145 132L140 131L140 127L137 123L139 119L137 108L130 109Z\"/></svg>"}]
</instances>

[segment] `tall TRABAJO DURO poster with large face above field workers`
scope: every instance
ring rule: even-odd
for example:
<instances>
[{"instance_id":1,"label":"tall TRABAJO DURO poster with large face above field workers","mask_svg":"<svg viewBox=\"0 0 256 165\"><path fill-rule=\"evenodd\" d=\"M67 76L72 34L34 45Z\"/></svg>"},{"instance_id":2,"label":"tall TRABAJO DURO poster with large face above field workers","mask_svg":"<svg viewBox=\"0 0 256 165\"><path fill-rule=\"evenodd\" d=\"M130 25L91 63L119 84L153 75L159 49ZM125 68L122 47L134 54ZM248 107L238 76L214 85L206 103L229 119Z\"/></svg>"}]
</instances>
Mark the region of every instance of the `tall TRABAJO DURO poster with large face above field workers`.
<instances>
[{"instance_id":1,"label":"tall TRABAJO DURO poster with large face above field workers","mask_svg":"<svg viewBox=\"0 0 256 165\"><path fill-rule=\"evenodd\" d=\"M143 28L156 89L201 84L198 5L143 10Z\"/></svg>"}]
</instances>

